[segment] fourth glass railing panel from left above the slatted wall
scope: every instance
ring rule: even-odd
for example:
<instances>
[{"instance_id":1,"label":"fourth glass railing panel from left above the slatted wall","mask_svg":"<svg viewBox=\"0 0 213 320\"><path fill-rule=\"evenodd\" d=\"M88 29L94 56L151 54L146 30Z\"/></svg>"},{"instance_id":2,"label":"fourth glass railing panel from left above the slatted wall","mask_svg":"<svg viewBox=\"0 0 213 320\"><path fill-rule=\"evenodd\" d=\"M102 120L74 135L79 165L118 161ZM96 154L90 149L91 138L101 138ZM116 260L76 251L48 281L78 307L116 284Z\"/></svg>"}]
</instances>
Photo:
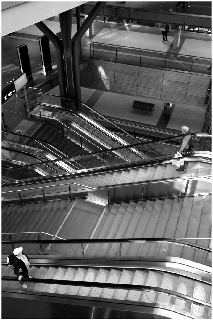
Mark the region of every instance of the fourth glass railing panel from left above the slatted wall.
<instances>
[{"instance_id":1,"label":"fourth glass railing panel from left above the slatted wall","mask_svg":"<svg viewBox=\"0 0 213 320\"><path fill-rule=\"evenodd\" d=\"M192 68L192 61L192 58L167 54L165 68L190 72Z\"/></svg>"}]
</instances>

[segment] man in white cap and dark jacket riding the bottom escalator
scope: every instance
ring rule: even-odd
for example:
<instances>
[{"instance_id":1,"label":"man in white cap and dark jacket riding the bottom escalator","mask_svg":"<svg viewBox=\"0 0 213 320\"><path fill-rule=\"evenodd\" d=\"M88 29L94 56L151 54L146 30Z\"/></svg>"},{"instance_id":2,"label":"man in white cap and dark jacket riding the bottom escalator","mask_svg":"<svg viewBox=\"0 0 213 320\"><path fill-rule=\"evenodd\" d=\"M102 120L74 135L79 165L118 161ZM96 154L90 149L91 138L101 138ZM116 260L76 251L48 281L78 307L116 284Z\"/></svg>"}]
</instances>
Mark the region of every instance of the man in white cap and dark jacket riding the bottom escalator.
<instances>
[{"instance_id":1,"label":"man in white cap and dark jacket riding the bottom escalator","mask_svg":"<svg viewBox=\"0 0 213 320\"><path fill-rule=\"evenodd\" d=\"M22 252L23 248L16 248L13 250L12 254L12 263L14 267L14 273L19 278L19 284L21 284L22 288L27 289L27 284L22 284L22 278L32 278L28 275L28 268L30 266L29 259Z\"/></svg>"}]
</instances>

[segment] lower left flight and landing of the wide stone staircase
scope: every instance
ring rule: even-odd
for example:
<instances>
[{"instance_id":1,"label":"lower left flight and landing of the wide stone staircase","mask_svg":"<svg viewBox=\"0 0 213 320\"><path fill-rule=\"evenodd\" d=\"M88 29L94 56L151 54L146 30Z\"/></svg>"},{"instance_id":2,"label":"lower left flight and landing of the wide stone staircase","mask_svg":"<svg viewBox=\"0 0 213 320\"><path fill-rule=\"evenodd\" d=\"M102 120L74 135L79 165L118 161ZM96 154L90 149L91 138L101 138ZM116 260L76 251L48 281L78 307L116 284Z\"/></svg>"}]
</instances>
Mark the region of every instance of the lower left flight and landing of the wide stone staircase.
<instances>
[{"instance_id":1,"label":"lower left flight and landing of the wide stone staircase","mask_svg":"<svg viewBox=\"0 0 213 320\"><path fill-rule=\"evenodd\" d=\"M76 199L72 203L67 200L56 200L46 205L32 203L24 204L23 207L20 205L4 206L2 208L2 233L43 231L65 239L89 238L102 212L103 206L81 199ZM17 234L11 237L12 240L38 240L36 233ZM40 238L42 240L53 239L52 236L45 234L40 234ZM2 240L9 240L9 236L3 235ZM28 244L25 248L26 254L41 253L39 245ZM54 245L54 248L57 249L57 245ZM2 245L2 254L9 254L11 250L11 245Z\"/></svg>"}]
</instances>

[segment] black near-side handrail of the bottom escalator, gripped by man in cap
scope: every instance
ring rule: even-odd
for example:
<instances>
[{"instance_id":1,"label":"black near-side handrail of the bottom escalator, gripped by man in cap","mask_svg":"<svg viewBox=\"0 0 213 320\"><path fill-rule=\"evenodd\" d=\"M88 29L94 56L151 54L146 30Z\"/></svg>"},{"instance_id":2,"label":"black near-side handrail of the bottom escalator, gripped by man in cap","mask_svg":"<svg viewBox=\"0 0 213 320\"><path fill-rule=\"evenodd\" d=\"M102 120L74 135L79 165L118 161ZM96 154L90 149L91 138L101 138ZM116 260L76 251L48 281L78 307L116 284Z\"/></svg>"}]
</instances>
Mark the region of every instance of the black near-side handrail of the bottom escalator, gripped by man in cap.
<instances>
[{"instance_id":1,"label":"black near-side handrail of the bottom escalator, gripped by man in cap","mask_svg":"<svg viewBox=\"0 0 213 320\"><path fill-rule=\"evenodd\" d=\"M2 280L4 281L17 281L17 277L11 276L2 276ZM103 282L89 282L89 281L75 281L75 280L58 280L58 279L44 279L44 278L26 278L25 282L29 283L44 283L44 284L62 284L62 285L74 285L80 287L95 287L95 288L110 288L110 289L123 289L123 290L136 290L136 291L145 291L145 292L156 292L156 293L164 293L166 295L172 296L174 298L178 298L184 300L186 302L194 303L201 307L211 308L211 303L202 301L200 299L189 297L180 292L163 289L159 287L152 287L146 285L139 284L113 284L113 283L103 283ZM37 292L38 293L38 292ZM132 301L133 302L133 301ZM128 300L128 303L131 303Z\"/></svg>"}]
</instances>

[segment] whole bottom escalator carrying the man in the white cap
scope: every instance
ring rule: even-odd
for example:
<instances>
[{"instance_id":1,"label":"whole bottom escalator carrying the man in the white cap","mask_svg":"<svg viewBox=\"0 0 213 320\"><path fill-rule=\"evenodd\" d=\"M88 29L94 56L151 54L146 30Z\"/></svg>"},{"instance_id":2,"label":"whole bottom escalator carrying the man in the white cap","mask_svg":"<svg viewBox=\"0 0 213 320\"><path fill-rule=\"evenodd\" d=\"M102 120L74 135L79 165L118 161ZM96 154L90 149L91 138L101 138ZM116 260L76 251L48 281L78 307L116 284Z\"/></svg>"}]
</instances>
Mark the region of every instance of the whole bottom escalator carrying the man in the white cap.
<instances>
[{"instance_id":1,"label":"whole bottom escalator carrying the man in the white cap","mask_svg":"<svg viewBox=\"0 0 213 320\"><path fill-rule=\"evenodd\" d=\"M57 297L56 303L62 304L66 298L68 304L79 306L80 318L88 304L110 312L123 310L124 314L129 306L131 318L143 318L145 314L156 318L211 318L210 267L171 257L133 260L31 256L29 274L34 280L27 279L26 290L21 290L17 281L8 281L14 273L3 263L2 294L15 298L25 294L25 299L34 303L44 295L47 301ZM100 318L103 315L104 310Z\"/></svg>"}]
</instances>

